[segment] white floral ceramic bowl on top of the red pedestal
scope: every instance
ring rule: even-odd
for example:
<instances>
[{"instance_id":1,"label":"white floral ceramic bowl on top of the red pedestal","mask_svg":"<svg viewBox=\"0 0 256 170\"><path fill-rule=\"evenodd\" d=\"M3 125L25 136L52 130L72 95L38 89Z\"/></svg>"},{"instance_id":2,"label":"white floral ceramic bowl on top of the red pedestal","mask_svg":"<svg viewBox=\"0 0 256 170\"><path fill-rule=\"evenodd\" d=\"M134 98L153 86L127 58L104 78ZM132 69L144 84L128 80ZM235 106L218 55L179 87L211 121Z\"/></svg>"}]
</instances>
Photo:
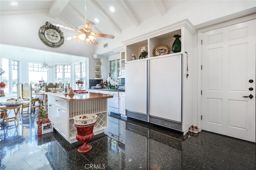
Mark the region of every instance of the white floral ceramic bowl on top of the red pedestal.
<instances>
[{"instance_id":1,"label":"white floral ceramic bowl on top of the red pedestal","mask_svg":"<svg viewBox=\"0 0 256 170\"><path fill-rule=\"evenodd\" d=\"M97 115L95 114L83 114L73 117L75 125L90 125L96 122Z\"/></svg>"}]
</instances>

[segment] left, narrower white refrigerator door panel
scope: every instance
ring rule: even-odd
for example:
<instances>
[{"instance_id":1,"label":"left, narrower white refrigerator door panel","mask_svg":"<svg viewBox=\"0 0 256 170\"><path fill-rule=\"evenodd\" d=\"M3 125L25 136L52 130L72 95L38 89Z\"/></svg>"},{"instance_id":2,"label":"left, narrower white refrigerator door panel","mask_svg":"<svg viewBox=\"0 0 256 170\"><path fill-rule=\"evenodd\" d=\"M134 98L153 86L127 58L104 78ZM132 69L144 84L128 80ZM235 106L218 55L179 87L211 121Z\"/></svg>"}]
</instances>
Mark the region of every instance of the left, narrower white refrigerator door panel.
<instances>
[{"instance_id":1,"label":"left, narrower white refrigerator door panel","mask_svg":"<svg viewBox=\"0 0 256 170\"><path fill-rule=\"evenodd\" d=\"M125 109L147 114L147 61L125 64Z\"/></svg>"}]
</instances>

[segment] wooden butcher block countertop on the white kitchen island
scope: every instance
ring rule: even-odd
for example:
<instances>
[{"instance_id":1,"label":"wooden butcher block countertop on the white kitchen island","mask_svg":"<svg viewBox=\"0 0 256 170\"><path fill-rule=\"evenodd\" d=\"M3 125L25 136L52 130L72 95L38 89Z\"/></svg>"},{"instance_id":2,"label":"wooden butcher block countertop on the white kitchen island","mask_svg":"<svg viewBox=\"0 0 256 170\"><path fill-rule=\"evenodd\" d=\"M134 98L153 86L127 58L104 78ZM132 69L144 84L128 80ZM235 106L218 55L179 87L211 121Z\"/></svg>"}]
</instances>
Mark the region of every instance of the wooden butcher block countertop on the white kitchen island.
<instances>
[{"instance_id":1,"label":"wooden butcher block countertop on the white kitchen island","mask_svg":"<svg viewBox=\"0 0 256 170\"><path fill-rule=\"evenodd\" d=\"M113 95L111 94L101 94L101 93L80 93L80 94L74 94L74 95L68 95L64 94L62 92L52 93L52 92L46 92L45 94L54 96L56 98L64 99L66 101L88 101L88 100L99 100L99 99L107 99L107 98L113 98Z\"/></svg>"}]
</instances>

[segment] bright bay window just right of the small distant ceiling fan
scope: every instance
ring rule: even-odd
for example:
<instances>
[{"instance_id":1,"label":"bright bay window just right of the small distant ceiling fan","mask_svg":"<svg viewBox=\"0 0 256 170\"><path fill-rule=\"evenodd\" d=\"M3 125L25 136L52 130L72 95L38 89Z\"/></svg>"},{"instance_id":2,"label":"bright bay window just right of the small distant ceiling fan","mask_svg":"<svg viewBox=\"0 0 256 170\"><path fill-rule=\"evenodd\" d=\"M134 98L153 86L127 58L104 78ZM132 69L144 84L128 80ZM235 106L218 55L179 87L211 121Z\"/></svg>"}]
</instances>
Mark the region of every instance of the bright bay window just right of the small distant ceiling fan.
<instances>
[{"instance_id":1,"label":"bright bay window just right of the small distant ceiling fan","mask_svg":"<svg viewBox=\"0 0 256 170\"><path fill-rule=\"evenodd\" d=\"M70 83L70 65L56 64L57 83Z\"/></svg>"}]
</instances>

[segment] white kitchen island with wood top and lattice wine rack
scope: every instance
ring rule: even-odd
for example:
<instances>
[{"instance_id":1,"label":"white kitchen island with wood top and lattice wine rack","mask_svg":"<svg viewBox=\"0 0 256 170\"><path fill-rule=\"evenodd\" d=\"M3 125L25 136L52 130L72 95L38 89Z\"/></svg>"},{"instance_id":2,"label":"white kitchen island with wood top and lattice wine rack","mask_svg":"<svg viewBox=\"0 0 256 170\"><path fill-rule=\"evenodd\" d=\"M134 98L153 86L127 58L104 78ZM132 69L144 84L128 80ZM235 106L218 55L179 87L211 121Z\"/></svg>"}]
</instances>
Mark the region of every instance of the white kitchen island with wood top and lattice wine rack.
<instances>
[{"instance_id":1,"label":"white kitchen island with wood top and lattice wine rack","mask_svg":"<svg viewBox=\"0 0 256 170\"><path fill-rule=\"evenodd\" d=\"M64 93L47 92L48 118L53 122L54 129L69 143L76 142L76 127L73 117L81 114L98 115L94 125L94 135L104 132L107 127L108 98L110 94L83 93L67 95Z\"/></svg>"}]
</instances>

